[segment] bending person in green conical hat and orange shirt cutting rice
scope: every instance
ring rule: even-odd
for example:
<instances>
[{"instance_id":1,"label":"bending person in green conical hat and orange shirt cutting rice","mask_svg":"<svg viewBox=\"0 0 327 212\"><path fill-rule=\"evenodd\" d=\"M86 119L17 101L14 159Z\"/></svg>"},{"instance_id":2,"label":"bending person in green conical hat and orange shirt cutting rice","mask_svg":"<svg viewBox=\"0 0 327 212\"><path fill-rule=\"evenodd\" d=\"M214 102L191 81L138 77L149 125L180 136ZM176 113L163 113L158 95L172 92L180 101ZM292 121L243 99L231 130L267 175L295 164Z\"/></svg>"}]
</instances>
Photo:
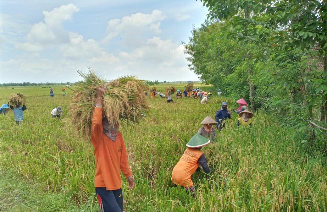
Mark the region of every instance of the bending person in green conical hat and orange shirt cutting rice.
<instances>
[{"instance_id":1,"label":"bending person in green conical hat and orange shirt cutting rice","mask_svg":"<svg viewBox=\"0 0 327 212\"><path fill-rule=\"evenodd\" d=\"M186 144L187 149L177 162L171 175L174 187L184 187L193 197L195 197L195 189L191 180L192 174L201 170L200 165L205 173L210 173L205 155L201 151L201 148L209 143L209 139L196 133Z\"/></svg>"}]
</instances>

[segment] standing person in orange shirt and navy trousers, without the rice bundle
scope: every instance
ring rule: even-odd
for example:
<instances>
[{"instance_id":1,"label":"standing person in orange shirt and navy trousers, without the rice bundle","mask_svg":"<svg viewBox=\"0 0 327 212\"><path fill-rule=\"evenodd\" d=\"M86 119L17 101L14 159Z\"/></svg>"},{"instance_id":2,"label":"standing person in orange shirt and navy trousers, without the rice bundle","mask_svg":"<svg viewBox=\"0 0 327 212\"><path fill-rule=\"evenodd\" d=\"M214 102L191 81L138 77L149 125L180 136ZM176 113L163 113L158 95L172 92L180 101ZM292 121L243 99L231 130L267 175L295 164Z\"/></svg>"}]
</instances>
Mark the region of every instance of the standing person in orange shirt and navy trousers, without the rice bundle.
<instances>
[{"instance_id":1,"label":"standing person in orange shirt and navy trousers, without the rice bundle","mask_svg":"<svg viewBox=\"0 0 327 212\"><path fill-rule=\"evenodd\" d=\"M134 179L129 169L124 139L118 131L119 123L109 123L103 116L101 100L105 88L97 89L97 100L92 119L92 145L94 147L95 191L100 211L123 211L123 194L120 171L129 187L134 187Z\"/></svg>"}]
</instances>

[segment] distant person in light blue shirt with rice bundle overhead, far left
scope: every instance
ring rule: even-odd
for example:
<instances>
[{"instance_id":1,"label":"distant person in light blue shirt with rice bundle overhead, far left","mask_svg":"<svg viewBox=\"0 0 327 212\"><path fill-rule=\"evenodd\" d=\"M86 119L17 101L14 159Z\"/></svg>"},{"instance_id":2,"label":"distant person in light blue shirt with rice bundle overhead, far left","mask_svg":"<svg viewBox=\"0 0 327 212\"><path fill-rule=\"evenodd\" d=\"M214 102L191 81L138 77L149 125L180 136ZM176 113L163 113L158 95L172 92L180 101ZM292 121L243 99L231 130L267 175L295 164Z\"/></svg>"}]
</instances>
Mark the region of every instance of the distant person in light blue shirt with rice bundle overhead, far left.
<instances>
[{"instance_id":1,"label":"distant person in light blue shirt with rice bundle overhead, far left","mask_svg":"<svg viewBox=\"0 0 327 212\"><path fill-rule=\"evenodd\" d=\"M20 125L24 120L23 111L27 109L26 97L22 93L13 93L9 96L8 106L14 111L15 122Z\"/></svg>"}]
</instances>

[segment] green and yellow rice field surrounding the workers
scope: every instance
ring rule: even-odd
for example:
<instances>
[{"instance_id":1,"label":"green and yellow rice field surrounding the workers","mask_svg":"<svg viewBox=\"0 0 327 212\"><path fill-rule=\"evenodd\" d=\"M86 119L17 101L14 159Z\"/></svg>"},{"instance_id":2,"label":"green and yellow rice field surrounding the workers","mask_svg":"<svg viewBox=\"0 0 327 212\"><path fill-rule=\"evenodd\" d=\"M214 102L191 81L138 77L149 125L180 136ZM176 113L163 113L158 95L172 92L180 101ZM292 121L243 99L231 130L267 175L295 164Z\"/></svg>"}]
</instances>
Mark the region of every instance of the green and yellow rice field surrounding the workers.
<instances>
[{"instance_id":1,"label":"green and yellow rice field surrounding the workers","mask_svg":"<svg viewBox=\"0 0 327 212\"><path fill-rule=\"evenodd\" d=\"M163 92L166 85L156 87ZM175 86L183 89L184 84ZM14 92L27 97L20 126L12 111L0 116L1 210L98 211L92 144L79 139L69 122L50 115L54 107L62 106L62 118L67 117L71 91L66 89L68 96L62 97L62 86L53 86L56 96L50 99L49 86L42 87L0 89L1 104ZM172 188L171 171L203 118L214 117L222 101L237 107L235 100L217 96L218 88L195 87L213 90L208 104L176 96L173 104L167 104L158 95L151 99L148 92L155 109L139 125L120 129L135 178L133 189L123 180L124 210L326 211L323 155L308 155L292 128L281 127L260 111L252 119L252 128L237 128L238 117L232 113L217 140L203 148L211 173L193 175L195 198L182 188ZM16 206L16 195L21 205ZM49 203L37 207L39 198Z\"/></svg>"}]
</instances>

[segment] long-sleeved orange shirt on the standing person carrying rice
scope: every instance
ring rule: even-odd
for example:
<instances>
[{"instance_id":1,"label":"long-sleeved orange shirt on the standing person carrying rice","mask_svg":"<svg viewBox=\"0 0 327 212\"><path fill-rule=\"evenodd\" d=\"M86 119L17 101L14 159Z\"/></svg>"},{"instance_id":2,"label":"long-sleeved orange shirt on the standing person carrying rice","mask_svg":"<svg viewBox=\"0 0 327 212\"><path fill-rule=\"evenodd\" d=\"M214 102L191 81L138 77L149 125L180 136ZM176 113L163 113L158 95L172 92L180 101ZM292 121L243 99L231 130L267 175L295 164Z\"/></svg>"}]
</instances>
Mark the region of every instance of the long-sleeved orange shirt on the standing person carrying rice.
<instances>
[{"instance_id":1,"label":"long-sleeved orange shirt on the standing person carrying rice","mask_svg":"<svg viewBox=\"0 0 327 212\"><path fill-rule=\"evenodd\" d=\"M95 187L106 187L106 190L121 188L120 170L126 178L132 176L129 170L125 143L120 132L118 132L115 141L112 141L103 133L101 107L95 107L91 141L96 160Z\"/></svg>"}]
</instances>

